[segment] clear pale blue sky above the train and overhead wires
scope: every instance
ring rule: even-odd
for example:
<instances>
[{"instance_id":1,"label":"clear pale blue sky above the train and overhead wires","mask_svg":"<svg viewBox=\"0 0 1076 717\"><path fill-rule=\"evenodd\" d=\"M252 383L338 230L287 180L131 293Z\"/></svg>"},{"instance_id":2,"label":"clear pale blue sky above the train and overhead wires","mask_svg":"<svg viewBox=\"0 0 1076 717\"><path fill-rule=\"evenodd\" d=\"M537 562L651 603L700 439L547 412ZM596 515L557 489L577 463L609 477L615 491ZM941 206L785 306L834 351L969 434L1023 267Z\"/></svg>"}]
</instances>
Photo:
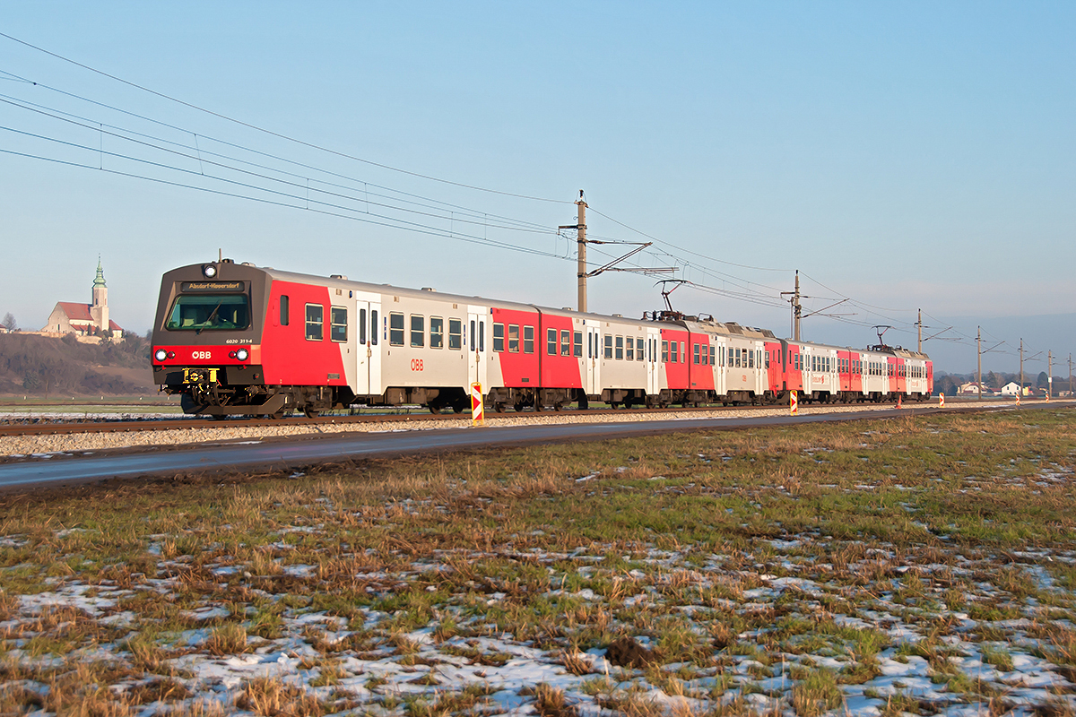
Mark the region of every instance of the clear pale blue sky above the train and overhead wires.
<instances>
[{"instance_id":1,"label":"clear pale blue sky above the train and overhead wires","mask_svg":"<svg viewBox=\"0 0 1076 717\"><path fill-rule=\"evenodd\" d=\"M1015 371L1021 338L1066 359L1074 20L1062 2L4 3L0 314L40 329L88 302L100 256L113 319L141 333L160 275L218 250L575 306L557 227L582 189L590 236L652 242L621 266L675 268L591 278L591 311L638 316L686 279L675 309L783 336L798 270L806 339L881 325L914 347L921 309L942 370L975 370L979 326L1004 342L983 371ZM633 248L590 246L591 268Z\"/></svg>"}]
</instances>

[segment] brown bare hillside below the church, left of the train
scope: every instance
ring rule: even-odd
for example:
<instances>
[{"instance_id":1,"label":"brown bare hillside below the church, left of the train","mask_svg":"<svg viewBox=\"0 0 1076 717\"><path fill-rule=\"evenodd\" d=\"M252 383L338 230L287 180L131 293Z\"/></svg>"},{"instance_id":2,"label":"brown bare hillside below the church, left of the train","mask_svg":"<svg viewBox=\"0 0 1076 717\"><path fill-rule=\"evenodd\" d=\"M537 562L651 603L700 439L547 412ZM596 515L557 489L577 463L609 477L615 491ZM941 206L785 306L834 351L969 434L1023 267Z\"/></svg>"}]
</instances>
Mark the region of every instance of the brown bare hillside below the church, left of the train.
<instances>
[{"instance_id":1,"label":"brown bare hillside below the church, left of the train","mask_svg":"<svg viewBox=\"0 0 1076 717\"><path fill-rule=\"evenodd\" d=\"M150 344L141 336L83 344L63 339L0 334L0 395L131 396L156 393Z\"/></svg>"}]
</instances>

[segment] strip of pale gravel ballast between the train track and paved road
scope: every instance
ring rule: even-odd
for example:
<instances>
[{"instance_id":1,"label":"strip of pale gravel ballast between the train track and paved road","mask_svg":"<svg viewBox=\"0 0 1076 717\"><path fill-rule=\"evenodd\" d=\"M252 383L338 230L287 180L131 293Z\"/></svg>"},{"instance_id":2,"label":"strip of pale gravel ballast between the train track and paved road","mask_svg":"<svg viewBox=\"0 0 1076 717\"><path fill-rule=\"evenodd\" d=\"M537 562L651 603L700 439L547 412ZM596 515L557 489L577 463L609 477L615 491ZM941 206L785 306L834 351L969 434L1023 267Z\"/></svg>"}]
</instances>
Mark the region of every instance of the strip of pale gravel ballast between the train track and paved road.
<instances>
[{"instance_id":1,"label":"strip of pale gravel ballast between the train track and paved road","mask_svg":"<svg viewBox=\"0 0 1076 717\"><path fill-rule=\"evenodd\" d=\"M1009 406L1011 402L976 403L976 406L993 407ZM887 411L893 405L856 404L856 405L812 405L801 406L799 415L822 413L852 413L865 411ZM915 404L906 406L909 411ZM712 418L755 418L761 416L787 415L787 406L751 408L747 411L700 411L690 415L661 413L586 414L586 413L541 413L541 414L492 414L485 422L490 428L507 426L535 426L542 424L626 424L646 420L697 420ZM58 453L84 453L108 450L112 448L129 448L133 446L168 446L197 443L221 443L233 441L261 441L265 439L316 436L335 433L368 433L390 431L437 431L449 428L467 428L469 418L439 421L399 420L393 422L362 424L317 424L288 426L253 426L242 424L222 426L221 428L175 428L151 431L128 431L122 433L69 433L56 435L0 436L0 456L20 458L26 456L42 456Z\"/></svg>"}]
</instances>

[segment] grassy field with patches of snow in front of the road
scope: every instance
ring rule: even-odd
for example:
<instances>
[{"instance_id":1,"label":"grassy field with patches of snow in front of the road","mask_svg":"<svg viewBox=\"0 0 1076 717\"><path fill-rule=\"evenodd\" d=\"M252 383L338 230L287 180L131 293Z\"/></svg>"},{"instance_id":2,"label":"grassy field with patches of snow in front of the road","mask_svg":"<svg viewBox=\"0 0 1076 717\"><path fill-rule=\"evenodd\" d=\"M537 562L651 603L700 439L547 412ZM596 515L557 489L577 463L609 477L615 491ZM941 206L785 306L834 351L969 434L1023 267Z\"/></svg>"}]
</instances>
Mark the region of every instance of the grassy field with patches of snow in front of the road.
<instances>
[{"instance_id":1,"label":"grassy field with patches of snow in front of the road","mask_svg":"<svg viewBox=\"0 0 1076 717\"><path fill-rule=\"evenodd\" d=\"M1076 415L0 501L2 709L1076 714Z\"/></svg>"}]
</instances>

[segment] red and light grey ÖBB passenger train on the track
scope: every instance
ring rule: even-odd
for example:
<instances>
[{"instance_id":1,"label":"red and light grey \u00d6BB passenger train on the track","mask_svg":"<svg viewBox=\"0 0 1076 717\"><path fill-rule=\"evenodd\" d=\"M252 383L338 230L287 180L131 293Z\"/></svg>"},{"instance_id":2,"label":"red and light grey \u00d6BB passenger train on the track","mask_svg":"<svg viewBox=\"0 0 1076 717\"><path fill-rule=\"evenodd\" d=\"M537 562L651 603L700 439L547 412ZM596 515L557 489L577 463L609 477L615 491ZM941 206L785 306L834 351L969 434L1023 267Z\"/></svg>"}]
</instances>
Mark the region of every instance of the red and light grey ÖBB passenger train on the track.
<instances>
[{"instance_id":1,"label":"red and light grey \u00d6BB passenger train on the track","mask_svg":"<svg viewBox=\"0 0 1076 717\"><path fill-rule=\"evenodd\" d=\"M316 416L353 405L495 412L925 400L929 356L778 339L648 312L580 313L218 259L161 278L151 358L187 414Z\"/></svg>"}]
</instances>

